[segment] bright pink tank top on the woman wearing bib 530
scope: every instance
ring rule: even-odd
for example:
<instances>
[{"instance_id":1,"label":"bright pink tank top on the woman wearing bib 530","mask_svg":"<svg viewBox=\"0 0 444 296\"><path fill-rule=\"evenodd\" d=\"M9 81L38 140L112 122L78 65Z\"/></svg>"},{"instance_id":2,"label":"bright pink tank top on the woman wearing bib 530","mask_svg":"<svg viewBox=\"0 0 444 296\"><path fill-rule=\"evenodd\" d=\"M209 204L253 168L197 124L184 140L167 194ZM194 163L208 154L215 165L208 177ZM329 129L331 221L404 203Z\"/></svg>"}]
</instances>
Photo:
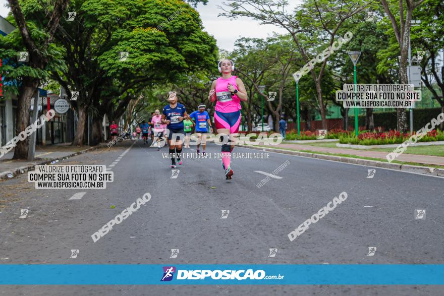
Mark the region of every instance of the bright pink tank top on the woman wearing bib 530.
<instances>
[{"instance_id":1,"label":"bright pink tank top on the woman wearing bib 530","mask_svg":"<svg viewBox=\"0 0 444 296\"><path fill-rule=\"evenodd\" d=\"M237 76L232 76L230 78L224 79L222 77L216 80L216 111L229 113L236 112L242 109L241 99L235 94L232 95L228 90L228 84L231 83L233 87L239 90L236 84Z\"/></svg>"}]
</instances>

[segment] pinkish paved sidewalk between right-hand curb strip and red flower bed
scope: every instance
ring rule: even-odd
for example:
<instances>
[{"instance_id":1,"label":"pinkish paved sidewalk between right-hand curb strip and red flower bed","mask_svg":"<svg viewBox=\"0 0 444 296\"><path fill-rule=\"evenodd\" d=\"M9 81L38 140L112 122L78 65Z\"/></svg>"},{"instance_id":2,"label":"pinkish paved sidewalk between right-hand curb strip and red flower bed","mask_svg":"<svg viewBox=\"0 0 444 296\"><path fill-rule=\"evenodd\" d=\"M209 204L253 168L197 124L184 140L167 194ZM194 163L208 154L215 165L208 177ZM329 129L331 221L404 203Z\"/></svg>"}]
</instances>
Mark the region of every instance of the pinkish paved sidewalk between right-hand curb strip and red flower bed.
<instances>
[{"instance_id":1,"label":"pinkish paved sidewalk between right-hand curb strip and red flower bed","mask_svg":"<svg viewBox=\"0 0 444 296\"><path fill-rule=\"evenodd\" d=\"M361 156L361 157L381 158L381 159L385 159L385 161L386 161L385 156L388 154L388 152L382 152L382 151L317 147L317 146L299 145L299 144L263 145L262 143L260 143L260 144L258 143L256 145L264 146L267 148L286 148L286 149L295 149L295 150L310 150L313 152L350 154L350 155L357 155L357 156ZM429 155L417 155L417 154L403 153L400 156L398 156L395 160L444 166L444 157L440 157L440 156L429 156Z\"/></svg>"}]
</instances>

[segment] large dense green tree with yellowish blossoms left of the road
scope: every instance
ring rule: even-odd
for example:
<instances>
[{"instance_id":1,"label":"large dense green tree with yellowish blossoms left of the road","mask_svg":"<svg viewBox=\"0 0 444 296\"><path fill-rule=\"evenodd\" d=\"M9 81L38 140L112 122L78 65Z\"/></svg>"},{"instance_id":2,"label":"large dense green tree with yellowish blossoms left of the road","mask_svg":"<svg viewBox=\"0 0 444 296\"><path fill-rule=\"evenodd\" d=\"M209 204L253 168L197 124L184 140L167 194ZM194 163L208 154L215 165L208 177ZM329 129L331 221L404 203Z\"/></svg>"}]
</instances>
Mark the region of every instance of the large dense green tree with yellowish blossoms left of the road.
<instances>
[{"instance_id":1,"label":"large dense green tree with yellowish blossoms left of the road","mask_svg":"<svg viewBox=\"0 0 444 296\"><path fill-rule=\"evenodd\" d=\"M212 63L215 40L182 1L78 0L73 5L78 24L63 23L57 38L68 48L75 71L54 78L80 91L74 145L84 141L87 110L93 113L94 138L100 139L104 114L117 119L145 88ZM125 60L121 52L128 53Z\"/></svg>"}]
</instances>

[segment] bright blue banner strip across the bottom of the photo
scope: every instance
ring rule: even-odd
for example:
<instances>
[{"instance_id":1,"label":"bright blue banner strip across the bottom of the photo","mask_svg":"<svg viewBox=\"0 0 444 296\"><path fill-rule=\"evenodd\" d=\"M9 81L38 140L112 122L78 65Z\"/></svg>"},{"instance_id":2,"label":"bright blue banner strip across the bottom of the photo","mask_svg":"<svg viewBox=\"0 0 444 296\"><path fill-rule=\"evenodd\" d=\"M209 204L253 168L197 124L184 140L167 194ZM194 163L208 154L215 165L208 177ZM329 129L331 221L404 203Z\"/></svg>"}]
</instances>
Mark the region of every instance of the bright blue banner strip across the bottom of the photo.
<instances>
[{"instance_id":1,"label":"bright blue banner strip across the bottom of the photo","mask_svg":"<svg viewBox=\"0 0 444 296\"><path fill-rule=\"evenodd\" d=\"M13 265L2 285L444 285L444 265Z\"/></svg>"}]
</instances>

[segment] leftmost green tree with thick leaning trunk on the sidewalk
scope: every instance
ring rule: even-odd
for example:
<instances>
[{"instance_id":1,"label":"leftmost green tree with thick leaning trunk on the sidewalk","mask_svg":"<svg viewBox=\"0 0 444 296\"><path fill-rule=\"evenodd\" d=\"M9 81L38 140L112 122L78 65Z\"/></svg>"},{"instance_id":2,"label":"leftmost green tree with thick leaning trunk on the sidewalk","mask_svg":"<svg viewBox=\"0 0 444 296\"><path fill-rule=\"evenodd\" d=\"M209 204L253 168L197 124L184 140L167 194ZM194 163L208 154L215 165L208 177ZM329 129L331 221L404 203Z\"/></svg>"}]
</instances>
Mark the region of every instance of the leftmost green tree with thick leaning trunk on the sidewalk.
<instances>
[{"instance_id":1,"label":"leftmost green tree with thick leaning trunk on the sidewalk","mask_svg":"<svg viewBox=\"0 0 444 296\"><path fill-rule=\"evenodd\" d=\"M13 47L27 51L29 62L27 66L21 66L12 76L18 79L18 104L16 134L24 131L28 125L31 97L37 91L39 83L47 77L47 72L52 68L53 62L60 58L60 49L53 44L53 37L62 16L66 14L66 7L69 0L56 0L53 6L48 6L45 10L45 26L38 26L35 21L34 11L41 8L49 1L42 3L35 1L8 0L11 12L14 16L14 25L20 33L22 40L14 39L14 34L6 43ZM10 37L5 37L10 38ZM11 54L11 51L5 52ZM61 61L58 61L61 62ZM62 62L63 64L63 62ZM11 68L10 68L11 69ZM53 68L52 68L53 69ZM5 71L5 70L3 70ZM20 77L20 78L19 78ZM28 155L28 138L17 143L14 149L14 159L26 158Z\"/></svg>"}]
</instances>

